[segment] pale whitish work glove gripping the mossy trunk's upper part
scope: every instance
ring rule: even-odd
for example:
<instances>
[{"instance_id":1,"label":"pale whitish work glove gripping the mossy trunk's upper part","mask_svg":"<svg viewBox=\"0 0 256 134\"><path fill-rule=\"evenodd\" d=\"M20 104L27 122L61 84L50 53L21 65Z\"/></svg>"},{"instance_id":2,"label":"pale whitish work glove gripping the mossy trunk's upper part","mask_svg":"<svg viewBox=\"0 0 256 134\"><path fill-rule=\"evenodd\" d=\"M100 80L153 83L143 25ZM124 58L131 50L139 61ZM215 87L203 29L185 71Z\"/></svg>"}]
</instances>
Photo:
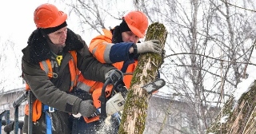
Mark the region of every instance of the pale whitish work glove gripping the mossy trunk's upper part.
<instances>
[{"instance_id":1,"label":"pale whitish work glove gripping the mossy trunk's upper part","mask_svg":"<svg viewBox=\"0 0 256 134\"><path fill-rule=\"evenodd\" d=\"M147 52L162 53L162 47L160 45L159 40L144 41L141 43L136 43L136 45L137 45L137 53L147 53Z\"/></svg>"}]
</instances>

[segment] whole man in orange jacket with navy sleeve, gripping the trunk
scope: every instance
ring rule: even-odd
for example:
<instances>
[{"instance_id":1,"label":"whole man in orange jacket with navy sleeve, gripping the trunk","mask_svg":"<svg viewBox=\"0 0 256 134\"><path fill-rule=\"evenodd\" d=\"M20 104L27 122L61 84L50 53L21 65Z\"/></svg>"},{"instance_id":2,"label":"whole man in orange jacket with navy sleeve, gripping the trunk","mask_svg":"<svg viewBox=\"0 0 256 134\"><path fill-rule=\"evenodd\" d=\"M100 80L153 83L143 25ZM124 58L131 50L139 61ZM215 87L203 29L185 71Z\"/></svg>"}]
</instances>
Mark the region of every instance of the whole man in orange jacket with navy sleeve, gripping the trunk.
<instances>
[{"instance_id":1,"label":"whole man in orange jacket with navy sleeve, gripping the trunk","mask_svg":"<svg viewBox=\"0 0 256 134\"><path fill-rule=\"evenodd\" d=\"M146 30L149 26L146 14L141 11L130 11L122 18L119 26L114 29L103 29L104 35L98 35L90 41L89 50L94 57L102 63L111 63L122 73L133 73L136 65L138 65L138 56L140 53L160 53L162 47L158 40L139 41L145 37ZM124 76L126 87L130 88L132 74ZM102 84L86 80L82 76L78 79L78 88L93 93L95 89L101 89ZM117 117L116 115L114 117ZM120 121L120 120L119 120ZM86 123L85 120L79 118L74 120L77 127L73 133L97 133L102 120ZM112 127L107 130L109 133L117 133L120 122L113 120Z\"/></svg>"}]
</instances>

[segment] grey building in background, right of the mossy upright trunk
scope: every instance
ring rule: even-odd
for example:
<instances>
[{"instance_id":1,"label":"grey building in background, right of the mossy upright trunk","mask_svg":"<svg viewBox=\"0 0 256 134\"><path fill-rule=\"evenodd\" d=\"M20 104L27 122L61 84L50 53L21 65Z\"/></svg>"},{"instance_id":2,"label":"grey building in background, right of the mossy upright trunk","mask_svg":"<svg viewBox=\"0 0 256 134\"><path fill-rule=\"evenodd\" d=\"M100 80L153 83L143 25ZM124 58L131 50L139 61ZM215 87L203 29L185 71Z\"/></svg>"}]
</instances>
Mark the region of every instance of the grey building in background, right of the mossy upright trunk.
<instances>
[{"instance_id":1,"label":"grey building in background, right of the mossy upright trunk","mask_svg":"<svg viewBox=\"0 0 256 134\"><path fill-rule=\"evenodd\" d=\"M193 105L193 107L191 107ZM210 123L214 122L220 108L203 107L206 112L205 119L200 128L203 131ZM144 133L150 134L197 134L198 119L194 104L188 104L182 98L174 99L153 95L150 98L148 114L146 117L146 128ZM206 124L203 124L206 122ZM205 127L206 126L206 127Z\"/></svg>"}]
</instances>

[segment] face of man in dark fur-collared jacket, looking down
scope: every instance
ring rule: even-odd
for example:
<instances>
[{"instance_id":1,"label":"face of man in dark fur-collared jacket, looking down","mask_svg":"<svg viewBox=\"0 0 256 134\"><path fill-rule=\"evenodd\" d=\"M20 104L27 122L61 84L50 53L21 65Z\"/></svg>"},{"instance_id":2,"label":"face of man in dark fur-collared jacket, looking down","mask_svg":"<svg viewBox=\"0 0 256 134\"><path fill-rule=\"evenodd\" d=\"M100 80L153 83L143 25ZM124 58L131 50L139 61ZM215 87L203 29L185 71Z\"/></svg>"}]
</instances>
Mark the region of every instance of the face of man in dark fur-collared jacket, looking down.
<instances>
[{"instance_id":1,"label":"face of man in dark fur-collared jacket, looking down","mask_svg":"<svg viewBox=\"0 0 256 134\"><path fill-rule=\"evenodd\" d=\"M48 36L54 45L65 45L66 32L67 28L65 26L62 29L55 31L54 33L49 33Z\"/></svg>"}]
</instances>

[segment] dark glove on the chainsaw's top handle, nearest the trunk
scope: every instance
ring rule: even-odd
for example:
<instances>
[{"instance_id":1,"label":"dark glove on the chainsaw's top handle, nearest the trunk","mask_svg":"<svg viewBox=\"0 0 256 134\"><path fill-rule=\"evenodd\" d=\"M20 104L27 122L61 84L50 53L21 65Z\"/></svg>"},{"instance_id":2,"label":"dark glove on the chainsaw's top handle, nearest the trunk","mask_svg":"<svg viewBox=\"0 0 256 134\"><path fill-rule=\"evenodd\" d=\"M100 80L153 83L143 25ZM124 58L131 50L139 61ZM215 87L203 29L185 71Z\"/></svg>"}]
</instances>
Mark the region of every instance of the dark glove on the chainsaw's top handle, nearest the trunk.
<instances>
[{"instance_id":1,"label":"dark glove on the chainsaw's top handle, nearest the trunk","mask_svg":"<svg viewBox=\"0 0 256 134\"><path fill-rule=\"evenodd\" d=\"M113 85L116 85L118 82L122 81L123 74L118 69L111 69L105 74L105 80L111 81Z\"/></svg>"}]
</instances>

